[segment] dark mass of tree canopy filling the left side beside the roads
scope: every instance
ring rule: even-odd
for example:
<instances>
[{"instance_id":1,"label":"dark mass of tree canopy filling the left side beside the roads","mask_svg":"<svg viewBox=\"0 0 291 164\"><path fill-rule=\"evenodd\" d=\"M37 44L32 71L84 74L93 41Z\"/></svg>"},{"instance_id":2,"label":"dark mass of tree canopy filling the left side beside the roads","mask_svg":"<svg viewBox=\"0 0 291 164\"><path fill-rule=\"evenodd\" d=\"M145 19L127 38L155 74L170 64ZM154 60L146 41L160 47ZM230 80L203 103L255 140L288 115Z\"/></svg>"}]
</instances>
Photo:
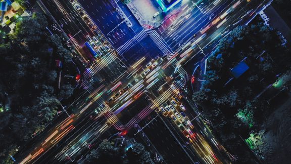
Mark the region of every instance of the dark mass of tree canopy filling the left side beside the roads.
<instances>
[{"instance_id":1,"label":"dark mass of tree canopy filling the left side beside the roads","mask_svg":"<svg viewBox=\"0 0 291 164\"><path fill-rule=\"evenodd\" d=\"M59 36L53 36L54 42L46 36L47 24L44 15L34 13L16 23L9 39L0 40L0 100L9 100L6 105L10 108L0 113L0 160L4 163L14 148L10 145L22 145L31 134L41 132L56 115L58 99L73 93L70 85L60 95L54 89L57 72L53 61L70 61L71 55ZM53 54L48 51L51 48Z\"/></svg>"}]
</instances>

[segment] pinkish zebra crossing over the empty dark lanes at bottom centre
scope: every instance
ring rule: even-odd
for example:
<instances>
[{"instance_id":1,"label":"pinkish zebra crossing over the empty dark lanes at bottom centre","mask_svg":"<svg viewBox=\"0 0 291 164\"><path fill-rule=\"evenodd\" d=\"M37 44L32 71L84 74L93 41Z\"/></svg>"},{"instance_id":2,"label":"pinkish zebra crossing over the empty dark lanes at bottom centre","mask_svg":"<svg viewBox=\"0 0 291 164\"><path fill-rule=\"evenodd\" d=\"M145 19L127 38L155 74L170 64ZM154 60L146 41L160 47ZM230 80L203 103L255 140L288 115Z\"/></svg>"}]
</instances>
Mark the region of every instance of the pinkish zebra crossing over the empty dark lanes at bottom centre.
<instances>
[{"instance_id":1,"label":"pinkish zebra crossing over the empty dark lanes at bottom centre","mask_svg":"<svg viewBox=\"0 0 291 164\"><path fill-rule=\"evenodd\" d=\"M152 108L153 104L149 104L147 107L143 108L138 114L131 118L124 126L127 130L131 129L134 124L138 124L143 118L146 118L155 108Z\"/></svg>"}]
</instances>

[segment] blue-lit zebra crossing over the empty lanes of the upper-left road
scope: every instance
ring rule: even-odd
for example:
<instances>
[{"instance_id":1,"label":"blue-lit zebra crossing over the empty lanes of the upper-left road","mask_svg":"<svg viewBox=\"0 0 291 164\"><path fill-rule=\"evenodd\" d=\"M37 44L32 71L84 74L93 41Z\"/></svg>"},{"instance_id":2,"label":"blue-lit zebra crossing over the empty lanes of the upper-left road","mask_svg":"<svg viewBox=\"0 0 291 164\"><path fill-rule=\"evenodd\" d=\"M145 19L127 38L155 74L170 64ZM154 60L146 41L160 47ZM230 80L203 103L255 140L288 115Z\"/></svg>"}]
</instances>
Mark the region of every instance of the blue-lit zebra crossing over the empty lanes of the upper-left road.
<instances>
[{"instance_id":1,"label":"blue-lit zebra crossing over the empty lanes of the upper-left road","mask_svg":"<svg viewBox=\"0 0 291 164\"><path fill-rule=\"evenodd\" d=\"M133 36L131 39L129 39L125 44L123 44L122 46L120 46L117 49L118 54L123 55L129 49L131 49L133 46L135 46L137 43L139 43L140 40L144 39L144 37L147 37L147 36L148 36L148 33L145 30L141 30L135 36Z\"/></svg>"}]
</instances>

